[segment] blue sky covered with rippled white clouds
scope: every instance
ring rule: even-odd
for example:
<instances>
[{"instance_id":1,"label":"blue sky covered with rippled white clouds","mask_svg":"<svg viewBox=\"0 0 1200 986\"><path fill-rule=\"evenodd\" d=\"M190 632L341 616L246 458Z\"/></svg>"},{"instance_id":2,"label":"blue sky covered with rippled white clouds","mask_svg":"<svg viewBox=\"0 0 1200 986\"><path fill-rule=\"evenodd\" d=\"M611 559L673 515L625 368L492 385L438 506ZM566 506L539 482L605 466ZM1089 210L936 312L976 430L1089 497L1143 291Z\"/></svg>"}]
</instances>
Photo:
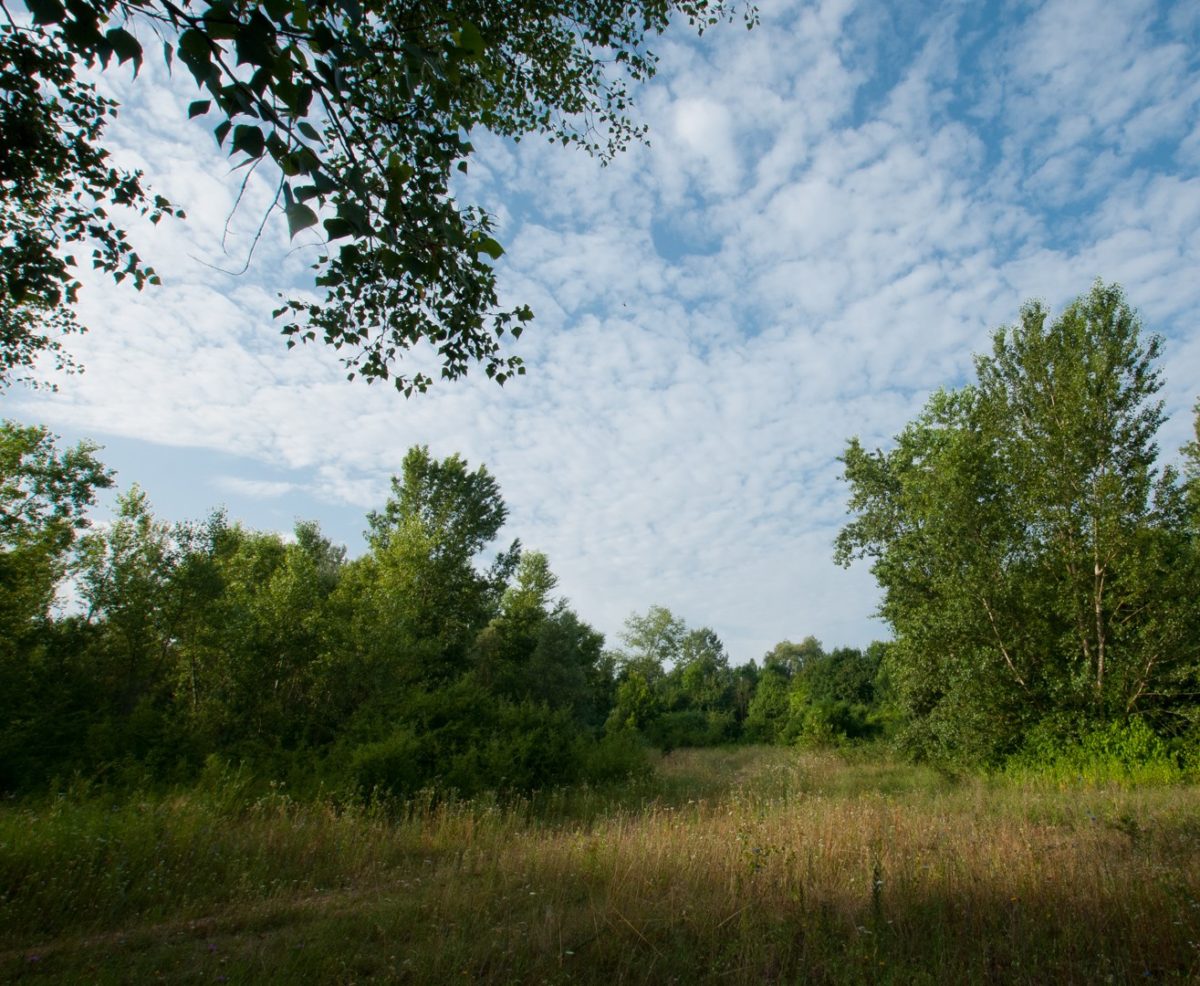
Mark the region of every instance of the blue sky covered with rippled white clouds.
<instances>
[{"instance_id":1,"label":"blue sky covered with rippled white clouds","mask_svg":"<svg viewBox=\"0 0 1200 986\"><path fill-rule=\"evenodd\" d=\"M648 146L608 167L538 139L475 139L460 196L488 208L503 301L536 320L482 373L404 399L288 351L271 318L317 245L230 173L186 73L102 84L114 156L186 222L134 226L164 285L88 278L86 372L14 387L0 414L91 438L158 516L223 505L317 519L364 549L407 449L497 477L520 537L616 644L652 605L731 659L781 639L888 636L864 564L833 563L838 456L886 446L1022 301L1120 282L1165 337L1170 459L1200 396L1200 5L1140 0L763 0L761 23L683 25L637 90ZM150 50L155 50L150 48ZM232 218L230 218L230 214ZM97 516L103 517L110 499Z\"/></svg>"}]
</instances>

